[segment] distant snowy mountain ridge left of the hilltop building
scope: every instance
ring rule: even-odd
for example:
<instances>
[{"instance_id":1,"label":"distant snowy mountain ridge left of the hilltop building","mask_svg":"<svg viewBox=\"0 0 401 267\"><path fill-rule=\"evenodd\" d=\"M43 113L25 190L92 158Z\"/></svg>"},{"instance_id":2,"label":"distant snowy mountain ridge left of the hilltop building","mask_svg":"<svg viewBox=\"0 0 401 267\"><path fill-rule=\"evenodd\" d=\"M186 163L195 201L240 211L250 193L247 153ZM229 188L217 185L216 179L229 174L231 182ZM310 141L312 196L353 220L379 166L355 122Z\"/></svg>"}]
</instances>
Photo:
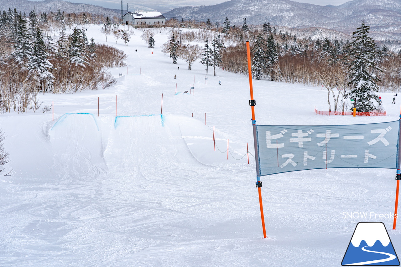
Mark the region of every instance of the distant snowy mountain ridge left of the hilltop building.
<instances>
[{"instance_id":1,"label":"distant snowy mountain ridge left of the hilltop building","mask_svg":"<svg viewBox=\"0 0 401 267\"><path fill-rule=\"evenodd\" d=\"M45 0L45 1L28 1L28 0L0 0L0 9L7 10L8 8L14 9L14 7L22 13L28 14L34 8L36 12L57 12L60 8L61 11L67 13L72 12L88 12L92 14L103 14L105 16L120 16L121 10L104 8L102 6L95 6L90 4L71 3L63 0ZM126 12L126 10L124 10Z\"/></svg>"}]
</instances>

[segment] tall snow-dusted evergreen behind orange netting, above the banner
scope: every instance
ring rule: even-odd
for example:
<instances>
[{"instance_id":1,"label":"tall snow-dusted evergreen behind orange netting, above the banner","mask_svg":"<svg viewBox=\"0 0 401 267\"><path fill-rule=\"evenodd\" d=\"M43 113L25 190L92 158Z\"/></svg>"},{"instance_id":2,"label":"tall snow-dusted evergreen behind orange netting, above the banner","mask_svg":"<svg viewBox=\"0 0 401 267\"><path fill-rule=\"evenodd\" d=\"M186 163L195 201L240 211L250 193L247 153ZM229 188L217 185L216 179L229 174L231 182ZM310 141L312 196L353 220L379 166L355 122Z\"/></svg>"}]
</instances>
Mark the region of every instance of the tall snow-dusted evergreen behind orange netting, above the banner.
<instances>
[{"instance_id":1,"label":"tall snow-dusted evergreen behind orange netting, above the banner","mask_svg":"<svg viewBox=\"0 0 401 267\"><path fill-rule=\"evenodd\" d=\"M356 111L371 112L375 109L373 101L379 103L379 97L375 92L379 91L376 84L380 81L373 71L381 71L377 67L377 48L372 37L368 36L369 26L362 22L362 26L352 32L351 42L352 61L348 67L348 86L351 87L347 97L356 101Z\"/></svg>"}]
</instances>

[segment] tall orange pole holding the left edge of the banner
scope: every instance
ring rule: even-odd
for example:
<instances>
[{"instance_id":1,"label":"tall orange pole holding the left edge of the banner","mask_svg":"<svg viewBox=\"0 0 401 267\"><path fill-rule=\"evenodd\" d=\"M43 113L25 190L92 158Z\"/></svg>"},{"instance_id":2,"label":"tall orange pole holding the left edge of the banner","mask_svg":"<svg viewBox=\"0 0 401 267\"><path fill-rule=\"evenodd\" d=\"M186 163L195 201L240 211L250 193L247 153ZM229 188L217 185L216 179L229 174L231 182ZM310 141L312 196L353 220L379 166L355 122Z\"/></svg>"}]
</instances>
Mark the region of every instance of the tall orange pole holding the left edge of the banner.
<instances>
[{"instance_id":1,"label":"tall orange pole holding the left edge of the banner","mask_svg":"<svg viewBox=\"0 0 401 267\"><path fill-rule=\"evenodd\" d=\"M251 110L252 110L253 143L255 146L256 187L257 187L257 191L259 193L259 206L260 206L260 216L262 219L263 238L266 238L267 236L266 236L266 228L265 228L265 216L263 215L263 203L262 203L262 192L261 192L262 181L260 180L259 156L258 156L258 151L257 151L256 119L255 119L256 101L255 101L255 99L253 99L251 49L249 48L249 41L247 41L247 55L248 55L249 89L251 92L251 100L249 100L249 105L251 105Z\"/></svg>"}]
</instances>

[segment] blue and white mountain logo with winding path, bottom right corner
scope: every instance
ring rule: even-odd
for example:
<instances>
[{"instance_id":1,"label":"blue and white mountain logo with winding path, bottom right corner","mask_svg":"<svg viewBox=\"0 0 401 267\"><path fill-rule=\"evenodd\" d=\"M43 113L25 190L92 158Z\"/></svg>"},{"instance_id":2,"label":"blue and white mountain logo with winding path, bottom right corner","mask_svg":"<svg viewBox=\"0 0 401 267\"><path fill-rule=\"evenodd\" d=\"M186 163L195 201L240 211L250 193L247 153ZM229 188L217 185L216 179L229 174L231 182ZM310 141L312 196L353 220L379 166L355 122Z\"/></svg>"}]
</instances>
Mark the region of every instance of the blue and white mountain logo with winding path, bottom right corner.
<instances>
[{"instance_id":1,"label":"blue and white mountain logo with winding path, bottom right corner","mask_svg":"<svg viewBox=\"0 0 401 267\"><path fill-rule=\"evenodd\" d=\"M358 223L341 265L399 266L384 223Z\"/></svg>"}]
</instances>

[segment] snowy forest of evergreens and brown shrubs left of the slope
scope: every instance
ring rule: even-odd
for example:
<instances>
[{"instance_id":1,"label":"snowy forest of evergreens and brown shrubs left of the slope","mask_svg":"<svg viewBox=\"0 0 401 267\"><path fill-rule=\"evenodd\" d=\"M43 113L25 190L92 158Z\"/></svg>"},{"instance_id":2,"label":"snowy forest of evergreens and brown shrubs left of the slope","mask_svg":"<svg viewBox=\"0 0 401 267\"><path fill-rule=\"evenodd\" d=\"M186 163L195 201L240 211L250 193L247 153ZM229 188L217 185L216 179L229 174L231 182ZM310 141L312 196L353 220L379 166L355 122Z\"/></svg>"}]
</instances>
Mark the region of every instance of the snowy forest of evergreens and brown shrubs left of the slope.
<instances>
[{"instance_id":1,"label":"snowy forest of evergreens and brown shrubs left of the slope","mask_svg":"<svg viewBox=\"0 0 401 267\"><path fill-rule=\"evenodd\" d=\"M93 90L115 83L106 69L123 66L126 55L113 47L97 45L93 38L87 38L83 27L105 19L85 13L65 14L60 9L54 14L32 10L27 16L16 8L3 10L0 109L36 111L41 108L39 92ZM107 27L111 29L109 21Z\"/></svg>"}]
</instances>

